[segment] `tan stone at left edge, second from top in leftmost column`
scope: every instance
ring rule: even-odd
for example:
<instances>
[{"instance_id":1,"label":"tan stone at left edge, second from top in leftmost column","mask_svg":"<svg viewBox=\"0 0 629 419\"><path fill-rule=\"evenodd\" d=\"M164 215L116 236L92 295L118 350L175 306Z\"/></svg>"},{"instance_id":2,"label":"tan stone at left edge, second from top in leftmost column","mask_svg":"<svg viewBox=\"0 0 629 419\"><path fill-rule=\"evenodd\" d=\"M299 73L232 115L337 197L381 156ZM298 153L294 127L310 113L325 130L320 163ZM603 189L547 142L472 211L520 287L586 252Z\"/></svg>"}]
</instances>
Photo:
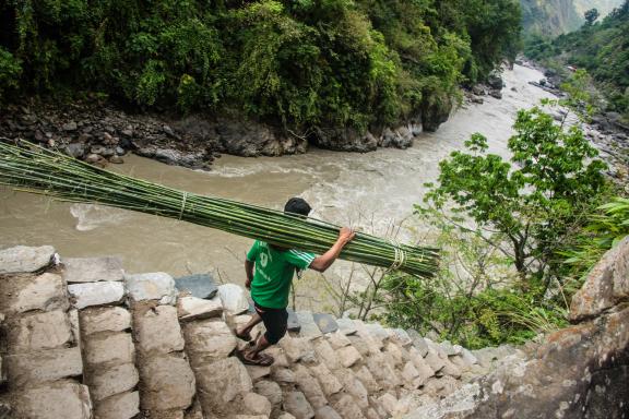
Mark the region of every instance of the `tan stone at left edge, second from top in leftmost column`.
<instances>
[{"instance_id":1,"label":"tan stone at left edge, second from top in leftmost column","mask_svg":"<svg viewBox=\"0 0 629 419\"><path fill-rule=\"evenodd\" d=\"M0 280L0 311L7 314L68 309L63 279L50 273Z\"/></svg>"}]
</instances>

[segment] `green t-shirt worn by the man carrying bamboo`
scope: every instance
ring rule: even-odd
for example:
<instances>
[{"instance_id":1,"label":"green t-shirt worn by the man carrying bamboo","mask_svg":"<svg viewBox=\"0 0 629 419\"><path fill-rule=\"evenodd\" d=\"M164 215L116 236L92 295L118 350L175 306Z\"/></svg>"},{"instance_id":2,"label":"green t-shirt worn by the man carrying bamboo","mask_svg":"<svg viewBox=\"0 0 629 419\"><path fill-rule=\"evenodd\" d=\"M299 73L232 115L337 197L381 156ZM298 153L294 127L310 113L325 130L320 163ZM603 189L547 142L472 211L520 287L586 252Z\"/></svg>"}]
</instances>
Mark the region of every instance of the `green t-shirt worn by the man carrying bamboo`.
<instances>
[{"instance_id":1,"label":"green t-shirt worn by the man carrying bamboo","mask_svg":"<svg viewBox=\"0 0 629 419\"><path fill-rule=\"evenodd\" d=\"M305 270L314 260L314 254L299 250L276 250L264 241L256 240L247 260L256 263L251 282L251 298L259 306L284 309L288 306L290 282L295 268Z\"/></svg>"}]
</instances>

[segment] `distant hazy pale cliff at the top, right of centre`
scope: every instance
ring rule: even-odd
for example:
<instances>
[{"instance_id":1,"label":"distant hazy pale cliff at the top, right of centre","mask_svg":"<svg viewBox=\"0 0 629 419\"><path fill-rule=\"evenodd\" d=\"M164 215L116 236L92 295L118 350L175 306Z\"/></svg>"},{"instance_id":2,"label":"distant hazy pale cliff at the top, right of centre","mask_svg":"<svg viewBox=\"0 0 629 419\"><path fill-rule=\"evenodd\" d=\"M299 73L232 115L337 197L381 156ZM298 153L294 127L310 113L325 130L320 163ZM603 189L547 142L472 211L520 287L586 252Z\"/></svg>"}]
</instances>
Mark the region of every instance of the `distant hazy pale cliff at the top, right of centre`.
<instances>
[{"instance_id":1,"label":"distant hazy pale cliff at the top, right of centre","mask_svg":"<svg viewBox=\"0 0 629 419\"><path fill-rule=\"evenodd\" d=\"M573 0L520 0L520 4L525 34L557 36L583 23Z\"/></svg>"}]
</instances>

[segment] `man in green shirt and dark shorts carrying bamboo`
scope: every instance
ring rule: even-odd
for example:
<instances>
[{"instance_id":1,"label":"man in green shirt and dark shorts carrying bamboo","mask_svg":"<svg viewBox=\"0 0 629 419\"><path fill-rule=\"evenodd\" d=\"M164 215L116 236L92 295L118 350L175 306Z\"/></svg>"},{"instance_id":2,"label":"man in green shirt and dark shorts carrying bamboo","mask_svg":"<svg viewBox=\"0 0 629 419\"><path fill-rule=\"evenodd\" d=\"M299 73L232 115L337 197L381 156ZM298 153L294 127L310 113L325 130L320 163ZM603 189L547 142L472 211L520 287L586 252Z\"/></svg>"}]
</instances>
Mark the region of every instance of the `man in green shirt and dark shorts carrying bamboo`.
<instances>
[{"instance_id":1,"label":"man in green shirt and dark shorts carrying bamboo","mask_svg":"<svg viewBox=\"0 0 629 419\"><path fill-rule=\"evenodd\" d=\"M310 205L300 197L292 197L284 206L284 213L307 217ZM349 228L343 227L336 242L320 256L294 249L275 247L263 241L256 241L247 253L245 286L251 290L256 313L249 323L236 336L251 340L251 330L264 322L266 333L258 342L240 351L242 362L256 366L270 366L274 359L268 354L261 354L271 345L275 345L286 334L288 312L288 295L295 271L311 268L325 272L339 258L341 250L356 236ZM253 273L256 267L256 273Z\"/></svg>"}]
</instances>

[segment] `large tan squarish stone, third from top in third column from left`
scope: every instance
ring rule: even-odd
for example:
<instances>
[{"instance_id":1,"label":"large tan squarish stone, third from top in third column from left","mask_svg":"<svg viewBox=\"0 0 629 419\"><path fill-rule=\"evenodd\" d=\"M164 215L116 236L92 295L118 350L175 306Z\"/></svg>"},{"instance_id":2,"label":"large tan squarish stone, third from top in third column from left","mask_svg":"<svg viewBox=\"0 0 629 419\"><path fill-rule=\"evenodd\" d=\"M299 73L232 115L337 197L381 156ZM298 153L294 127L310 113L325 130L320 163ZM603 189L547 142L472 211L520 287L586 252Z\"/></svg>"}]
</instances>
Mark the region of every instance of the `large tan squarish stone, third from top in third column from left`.
<instances>
[{"instance_id":1,"label":"large tan squarish stone, third from top in third column from left","mask_svg":"<svg viewBox=\"0 0 629 419\"><path fill-rule=\"evenodd\" d=\"M174 356L153 357L140 367L143 410L186 409L194 397L194 374L188 361Z\"/></svg>"}]
</instances>

